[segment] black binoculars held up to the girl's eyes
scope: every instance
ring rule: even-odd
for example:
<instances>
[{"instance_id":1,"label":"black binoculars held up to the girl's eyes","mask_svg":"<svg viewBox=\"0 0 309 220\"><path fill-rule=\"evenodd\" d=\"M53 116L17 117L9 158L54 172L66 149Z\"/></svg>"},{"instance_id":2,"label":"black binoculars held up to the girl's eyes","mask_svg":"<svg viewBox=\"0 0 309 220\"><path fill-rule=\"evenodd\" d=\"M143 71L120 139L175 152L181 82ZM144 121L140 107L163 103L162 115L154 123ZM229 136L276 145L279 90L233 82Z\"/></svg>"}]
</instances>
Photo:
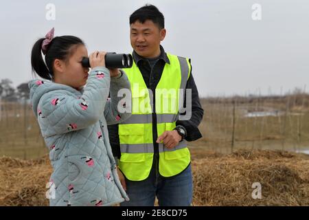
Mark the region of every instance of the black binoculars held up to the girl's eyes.
<instances>
[{"instance_id":1,"label":"black binoculars held up to the girl's eyes","mask_svg":"<svg viewBox=\"0 0 309 220\"><path fill-rule=\"evenodd\" d=\"M116 54L115 52L109 52L105 55L106 68L130 68L133 65L133 57L131 54ZM89 58L82 58L82 66L90 68Z\"/></svg>"}]
</instances>

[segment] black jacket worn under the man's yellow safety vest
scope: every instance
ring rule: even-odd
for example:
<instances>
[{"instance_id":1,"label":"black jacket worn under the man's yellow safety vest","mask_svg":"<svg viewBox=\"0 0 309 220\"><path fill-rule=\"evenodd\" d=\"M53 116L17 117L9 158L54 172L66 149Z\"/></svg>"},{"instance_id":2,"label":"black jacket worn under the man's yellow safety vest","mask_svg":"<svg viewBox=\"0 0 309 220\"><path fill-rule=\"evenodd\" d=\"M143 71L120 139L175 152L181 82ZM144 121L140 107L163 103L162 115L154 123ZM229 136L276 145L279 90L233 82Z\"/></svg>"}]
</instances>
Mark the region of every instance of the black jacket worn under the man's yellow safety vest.
<instances>
[{"instance_id":1,"label":"black jacket worn under the man's yellow safety vest","mask_svg":"<svg viewBox=\"0 0 309 220\"><path fill-rule=\"evenodd\" d=\"M141 74L143 75L144 81L148 89L152 90L152 94L154 95L153 105L155 106L155 88L159 83L161 78L163 68L165 63L170 63L168 56L165 54L164 49L161 47L161 54L159 56L159 60L153 66L153 69L150 67L150 63L146 58L142 58L136 52L133 52L133 59L139 67ZM152 71L152 72L151 72ZM151 74L150 74L151 72ZM192 89L192 116L190 120L179 120L176 121L176 126L181 125L187 131L187 135L185 140L191 142L194 140L198 140L202 137L201 132L198 130L198 125L203 120L204 110L201 107L201 102L198 97L198 90L196 88L194 78L192 76L192 68L190 76L187 80L186 89ZM185 98L184 98L185 100ZM185 104L184 104L185 107ZM155 111L155 108L153 108ZM185 114L185 113L183 113ZM152 134L153 134L153 143L155 146L155 153L159 152L159 145L156 143L157 141L157 116L155 113L152 113ZM120 158L120 144L119 144L119 135L118 135L118 124L108 125L108 134L109 140L111 142L111 147L113 150L114 157Z\"/></svg>"}]
</instances>

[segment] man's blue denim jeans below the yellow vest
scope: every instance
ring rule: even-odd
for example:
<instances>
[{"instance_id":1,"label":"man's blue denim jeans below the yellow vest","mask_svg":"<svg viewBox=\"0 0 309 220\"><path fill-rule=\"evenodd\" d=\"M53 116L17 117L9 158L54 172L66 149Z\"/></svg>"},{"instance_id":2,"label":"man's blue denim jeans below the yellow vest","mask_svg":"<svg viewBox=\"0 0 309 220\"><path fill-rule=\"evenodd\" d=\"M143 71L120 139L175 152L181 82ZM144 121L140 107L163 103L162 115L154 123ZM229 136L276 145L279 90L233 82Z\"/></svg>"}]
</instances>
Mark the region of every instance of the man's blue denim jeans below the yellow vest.
<instances>
[{"instance_id":1,"label":"man's blue denim jeans below the yellow vest","mask_svg":"<svg viewBox=\"0 0 309 220\"><path fill-rule=\"evenodd\" d=\"M168 178L161 177L152 166L147 179L126 179L126 193L130 201L124 201L120 206L154 206L156 196L159 206L190 206L193 194L191 164L181 174Z\"/></svg>"}]
</instances>

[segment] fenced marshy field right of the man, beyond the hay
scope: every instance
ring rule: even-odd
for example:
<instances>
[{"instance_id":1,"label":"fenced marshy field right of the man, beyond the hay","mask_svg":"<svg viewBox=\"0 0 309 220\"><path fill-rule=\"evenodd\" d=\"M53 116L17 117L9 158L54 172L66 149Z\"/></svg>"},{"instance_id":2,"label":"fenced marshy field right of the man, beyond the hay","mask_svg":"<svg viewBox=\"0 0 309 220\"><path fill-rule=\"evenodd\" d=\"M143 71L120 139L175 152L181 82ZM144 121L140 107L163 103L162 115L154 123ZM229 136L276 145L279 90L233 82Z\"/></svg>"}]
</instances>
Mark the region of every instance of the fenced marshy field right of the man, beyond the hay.
<instances>
[{"instance_id":1,"label":"fenced marshy field right of the man, beyond the hay","mask_svg":"<svg viewBox=\"0 0 309 220\"><path fill-rule=\"evenodd\" d=\"M198 145L215 151L309 148L309 96L205 98ZM195 144L196 145L196 144Z\"/></svg>"}]
</instances>

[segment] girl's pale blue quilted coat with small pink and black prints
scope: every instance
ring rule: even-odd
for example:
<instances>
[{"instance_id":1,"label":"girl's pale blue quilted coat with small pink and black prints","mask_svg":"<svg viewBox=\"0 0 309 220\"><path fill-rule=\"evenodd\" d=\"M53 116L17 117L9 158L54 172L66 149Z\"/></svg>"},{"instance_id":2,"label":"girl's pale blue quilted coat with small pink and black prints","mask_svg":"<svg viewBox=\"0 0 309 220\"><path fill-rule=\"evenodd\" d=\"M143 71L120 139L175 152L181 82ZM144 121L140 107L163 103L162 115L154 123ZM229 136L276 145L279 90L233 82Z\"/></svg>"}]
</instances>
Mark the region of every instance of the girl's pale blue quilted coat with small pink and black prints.
<instances>
[{"instance_id":1,"label":"girl's pale blue quilted coat with small pink and black prints","mask_svg":"<svg viewBox=\"0 0 309 220\"><path fill-rule=\"evenodd\" d=\"M108 69L96 67L80 91L47 80L32 80L29 87L54 168L49 205L111 206L128 200L117 175L106 126L130 117L130 113L117 111L122 99L117 91L130 89L126 74L111 78Z\"/></svg>"}]
</instances>

